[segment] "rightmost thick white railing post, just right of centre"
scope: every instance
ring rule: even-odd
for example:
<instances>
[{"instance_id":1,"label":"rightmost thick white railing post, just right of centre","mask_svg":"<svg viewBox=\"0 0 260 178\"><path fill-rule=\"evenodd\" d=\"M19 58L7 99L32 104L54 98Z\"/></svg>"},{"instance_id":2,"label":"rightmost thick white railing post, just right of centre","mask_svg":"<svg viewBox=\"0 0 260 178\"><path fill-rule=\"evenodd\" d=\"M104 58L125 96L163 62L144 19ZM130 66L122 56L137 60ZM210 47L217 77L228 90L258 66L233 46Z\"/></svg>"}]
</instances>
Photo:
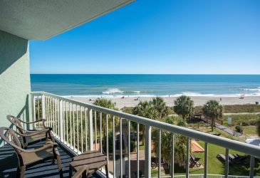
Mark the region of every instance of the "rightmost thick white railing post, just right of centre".
<instances>
[{"instance_id":1,"label":"rightmost thick white railing post, just right of centre","mask_svg":"<svg viewBox=\"0 0 260 178\"><path fill-rule=\"evenodd\" d=\"M145 177L147 178L151 177L151 126L150 125L145 125Z\"/></svg>"}]
</instances>

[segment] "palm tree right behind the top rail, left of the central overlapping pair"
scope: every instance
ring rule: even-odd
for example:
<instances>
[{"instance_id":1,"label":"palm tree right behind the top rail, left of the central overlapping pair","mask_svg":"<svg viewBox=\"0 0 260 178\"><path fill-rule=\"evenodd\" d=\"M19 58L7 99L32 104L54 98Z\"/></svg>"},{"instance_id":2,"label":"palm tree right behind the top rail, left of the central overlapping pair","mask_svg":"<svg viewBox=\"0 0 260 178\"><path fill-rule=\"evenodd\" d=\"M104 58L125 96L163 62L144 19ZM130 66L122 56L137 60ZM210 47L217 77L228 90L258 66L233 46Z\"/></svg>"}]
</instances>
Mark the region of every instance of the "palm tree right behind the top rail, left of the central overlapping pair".
<instances>
[{"instance_id":1,"label":"palm tree right behind the top rail, left of the central overlapping pair","mask_svg":"<svg viewBox=\"0 0 260 178\"><path fill-rule=\"evenodd\" d=\"M158 118L157 110L155 110L152 103L147 102L147 101L140 101L140 103L138 103L138 105L133 109L132 114L138 115L141 117L147 117L147 118L150 118L153 120ZM134 130L137 130L136 122L131 122L131 125ZM142 132L142 145L143 145L145 142L145 125L139 125L139 129Z\"/></svg>"}]
</instances>

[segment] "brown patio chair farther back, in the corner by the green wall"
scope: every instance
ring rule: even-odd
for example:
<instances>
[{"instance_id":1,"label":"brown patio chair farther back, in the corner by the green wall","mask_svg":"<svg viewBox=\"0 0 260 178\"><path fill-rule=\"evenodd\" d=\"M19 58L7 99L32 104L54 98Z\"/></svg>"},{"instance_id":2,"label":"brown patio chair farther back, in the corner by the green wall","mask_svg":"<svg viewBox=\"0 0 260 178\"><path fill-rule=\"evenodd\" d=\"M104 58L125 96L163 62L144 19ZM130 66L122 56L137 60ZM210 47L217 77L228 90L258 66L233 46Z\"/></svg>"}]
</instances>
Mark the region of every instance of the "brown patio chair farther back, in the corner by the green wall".
<instances>
[{"instance_id":1,"label":"brown patio chair farther back, in the corner by the green wall","mask_svg":"<svg viewBox=\"0 0 260 178\"><path fill-rule=\"evenodd\" d=\"M14 117L13 115L7 115L7 119L14 125L16 125L17 130L20 132L20 136L23 138L23 147L26 149L28 145L31 145L35 142L40 142L43 140L52 140L55 142L53 136L51 135L51 127L46 127L43 120L37 120L35 122L25 122L19 120L19 118ZM42 130L24 130L21 122L25 124L34 124L36 122L43 122Z\"/></svg>"}]
</instances>

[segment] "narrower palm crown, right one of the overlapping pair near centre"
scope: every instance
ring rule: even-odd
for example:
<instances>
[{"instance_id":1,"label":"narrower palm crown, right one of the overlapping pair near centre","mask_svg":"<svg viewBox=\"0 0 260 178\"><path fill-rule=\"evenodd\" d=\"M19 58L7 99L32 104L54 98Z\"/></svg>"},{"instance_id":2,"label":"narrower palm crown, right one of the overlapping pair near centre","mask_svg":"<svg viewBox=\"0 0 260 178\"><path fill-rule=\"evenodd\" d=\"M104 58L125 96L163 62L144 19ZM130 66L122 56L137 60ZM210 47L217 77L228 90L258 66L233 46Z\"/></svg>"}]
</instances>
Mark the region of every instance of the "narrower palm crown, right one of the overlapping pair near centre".
<instances>
[{"instance_id":1,"label":"narrower palm crown, right one of the overlapping pair near centre","mask_svg":"<svg viewBox=\"0 0 260 178\"><path fill-rule=\"evenodd\" d=\"M168 115L166 103L162 98L153 98L151 103L155 107L155 110L157 110L159 119L162 119Z\"/></svg>"}]
</instances>

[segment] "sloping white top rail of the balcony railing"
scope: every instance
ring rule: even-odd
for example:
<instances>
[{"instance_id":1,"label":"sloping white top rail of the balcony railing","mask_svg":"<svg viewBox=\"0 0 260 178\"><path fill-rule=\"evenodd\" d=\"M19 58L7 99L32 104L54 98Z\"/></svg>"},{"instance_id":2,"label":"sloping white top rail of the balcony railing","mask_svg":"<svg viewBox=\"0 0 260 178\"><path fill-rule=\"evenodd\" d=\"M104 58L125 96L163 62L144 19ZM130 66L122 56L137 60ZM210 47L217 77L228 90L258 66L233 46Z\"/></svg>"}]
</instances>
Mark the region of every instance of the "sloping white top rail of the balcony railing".
<instances>
[{"instance_id":1,"label":"sloping white top rail of the balcony railing","mask_svg":"<svg viewBox=\"0 0 260 178\"><path fill-rule=\"evenodd\" d=\"M145 118L145 117L140 117L140 116L137 116L137 115L130 115L128 113L120 112L120 111L117 111L117 110L110 110L108 108L103 108L103 107L100 107L100 106L97 106L97 105L83 103L83 102L80 102L78 100L73 100L73 99L70 99L70 98L64 98L64 97L61 97L59 95L54 95L54 94L51 94L51 93L31 92L31 95L46 95L46 96L49 96L49 97L56 98L58 100L64 100L66 102L73 103L75 105L81 105L85 108L90 108L92 110L107 113L109 115L114 115L114 116L117 116L117 117L128 119L128 120L131 120L133 122L139 122L143 125L150 125L152 127L156 127L158 129L161 129L161 130L166 130L166 131L169 131L169 132L174 132L176 134L184 135L185 137L190 137L190 138L194 138L194 139L197 139L197 140L202 140L203 142L208 142L208 143L212 143L214 145L219 145L221 147L225 147L225 148L228 148L228 149L231 149L231 150L244 152L244 153L246 153L248 155L252 155L254 157L260 157L260 147L257 147L255 145L249 145L249 144L244 143L244 142L238 142L238 141L230 140L230 139L227 139L227 138L224 138L224 137L209 135L209 134L204 133L204 132L191 130L191 129L188 129L188 128L185 128L185 127L180 127L180 126L177 126L177 125L170 125L170 124L167 124L165 122L160 122L160 121L157 121L157 120L152 120L152 119L148 119L148 118Z\"/></svg>"}]
</instances>

